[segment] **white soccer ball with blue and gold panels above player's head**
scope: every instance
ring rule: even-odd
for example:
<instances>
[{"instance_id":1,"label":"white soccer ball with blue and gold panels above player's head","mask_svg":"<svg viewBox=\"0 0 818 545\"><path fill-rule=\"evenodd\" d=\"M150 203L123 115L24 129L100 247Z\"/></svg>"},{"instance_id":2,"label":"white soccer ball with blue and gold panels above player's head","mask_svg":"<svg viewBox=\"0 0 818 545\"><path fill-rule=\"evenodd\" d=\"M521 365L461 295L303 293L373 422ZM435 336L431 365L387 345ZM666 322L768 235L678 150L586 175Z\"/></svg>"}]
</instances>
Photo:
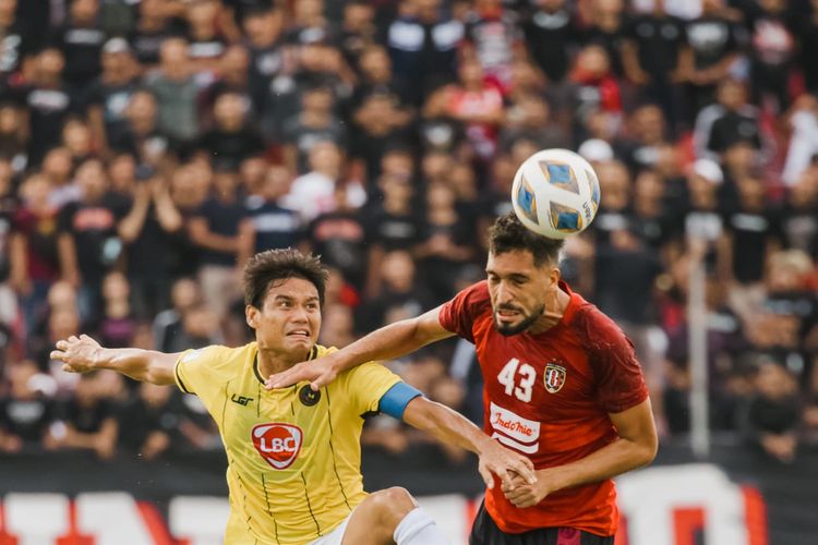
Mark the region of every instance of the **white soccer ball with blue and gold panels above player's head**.
<instances>
[{"instance_id":1,"label":"white soccer ball with blue and gold panels above player's head","mask_svg":"<svg viewBox=\"0 0 818 545\"><path fill-rule=\"evenodd\" d=\"M590 226L599 199L593 167L568 149L537 152L517 169L512 186L517 218L549 239L565 239Z\"/></svg>"}]
</instances>

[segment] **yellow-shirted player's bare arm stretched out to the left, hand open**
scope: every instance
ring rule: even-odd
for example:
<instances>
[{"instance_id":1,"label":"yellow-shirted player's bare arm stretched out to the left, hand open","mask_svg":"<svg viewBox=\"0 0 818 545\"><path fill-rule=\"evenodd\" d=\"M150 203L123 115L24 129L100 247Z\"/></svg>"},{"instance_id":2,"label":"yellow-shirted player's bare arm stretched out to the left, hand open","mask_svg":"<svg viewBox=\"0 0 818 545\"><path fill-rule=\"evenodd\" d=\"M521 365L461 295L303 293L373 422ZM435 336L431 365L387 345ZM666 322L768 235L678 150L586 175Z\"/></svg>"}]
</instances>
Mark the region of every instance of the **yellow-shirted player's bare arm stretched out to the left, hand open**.
<instances>
[{"instance_id":1,"label":"yellow-shirted player's bare arm stretched out to the left, hand open","mask_svg":"<svg viewBox=\"0 0 818 545\"><path fill-rule=\"evenodd\" d=\"M173 366L181 355L137 348L103 348L87 335L59 340L56 347L51 359L61 361L62 371L68 373L111 370L135 380L159 386L175 383Z\"/></svg>"}]
</instances>

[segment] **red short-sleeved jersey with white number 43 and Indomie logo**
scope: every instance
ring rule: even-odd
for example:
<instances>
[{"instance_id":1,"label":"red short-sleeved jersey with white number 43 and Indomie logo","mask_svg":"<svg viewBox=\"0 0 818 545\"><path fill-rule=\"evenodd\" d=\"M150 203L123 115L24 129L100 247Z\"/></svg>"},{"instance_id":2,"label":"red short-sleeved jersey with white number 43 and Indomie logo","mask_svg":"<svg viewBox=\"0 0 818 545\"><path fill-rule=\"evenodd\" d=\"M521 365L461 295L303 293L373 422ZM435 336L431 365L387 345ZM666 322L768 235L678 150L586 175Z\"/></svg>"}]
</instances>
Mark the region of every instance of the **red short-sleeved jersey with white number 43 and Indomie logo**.
<instances>
[{"instance_id":1,"label":"red short-sleeved jersey with white number 43 and Indomie logo","mask_svg":"<svg viewBox=\"0 0 818 545\"><path fill-rule=\"evenodd\" d=\"M505 337L494 327L489 287L476 283L443 306L441 325L472 341L485 384L484 429L528 456L534 468L579 460L616 439L609 413L648 398L634 347L611 318L570 291L560 323L542 334ZM556 492L519 509L500 486L485 509L501 530L568 526L613 535L618 524L612 480Z\"/></svg>"}]
</instances>

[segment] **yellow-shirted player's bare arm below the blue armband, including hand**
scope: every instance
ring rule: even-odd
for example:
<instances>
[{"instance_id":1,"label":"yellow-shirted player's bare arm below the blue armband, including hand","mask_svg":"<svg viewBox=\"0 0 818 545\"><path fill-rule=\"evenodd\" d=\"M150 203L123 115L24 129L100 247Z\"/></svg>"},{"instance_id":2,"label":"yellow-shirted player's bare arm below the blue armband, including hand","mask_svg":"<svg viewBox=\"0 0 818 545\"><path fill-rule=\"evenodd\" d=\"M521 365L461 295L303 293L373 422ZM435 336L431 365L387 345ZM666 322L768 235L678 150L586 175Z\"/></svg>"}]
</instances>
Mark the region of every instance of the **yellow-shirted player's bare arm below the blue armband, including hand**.
<instances>
[{"instance_id":1,"label":"yellow-shirted player's bare arm below the blue armband, including hand","mask_svg":"<svg viewBox=\"0 0 818 545\"><path fill-rule=\"evenodd\" d=\"M520 484L526 483L530 486L536 481L531 460L502 447L460 413L446 405L419 396L406 405L404 422L428 432L441 443L457 445L478 455L478 469L489 488L494 488L494 475L501 479L504 489L516 487L514 481L517 475L522 479Z\"/></svg>"}]
</instances>

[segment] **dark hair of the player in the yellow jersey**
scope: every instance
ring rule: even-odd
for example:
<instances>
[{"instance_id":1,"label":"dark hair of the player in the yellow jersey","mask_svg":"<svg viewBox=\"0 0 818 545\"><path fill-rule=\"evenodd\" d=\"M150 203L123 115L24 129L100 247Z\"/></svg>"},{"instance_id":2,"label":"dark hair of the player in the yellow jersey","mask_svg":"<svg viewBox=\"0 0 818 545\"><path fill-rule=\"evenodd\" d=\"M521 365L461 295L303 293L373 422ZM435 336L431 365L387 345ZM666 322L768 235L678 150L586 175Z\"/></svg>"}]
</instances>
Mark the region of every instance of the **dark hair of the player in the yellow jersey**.
<instances>
[{"instance_id":1,"label":"dark hair of the player in the yellow jersey","mask_svg":"<svg viewBox=\"0 0 818 545\"><path fill-rule=\"evenodd\" d=\"M244 266L244 304L261 308L274 282L303 278L318 290L318 301L323 305L327 276L318 256L304 255L291 247L260 252Z\"/></svg>"}]
</instances>

